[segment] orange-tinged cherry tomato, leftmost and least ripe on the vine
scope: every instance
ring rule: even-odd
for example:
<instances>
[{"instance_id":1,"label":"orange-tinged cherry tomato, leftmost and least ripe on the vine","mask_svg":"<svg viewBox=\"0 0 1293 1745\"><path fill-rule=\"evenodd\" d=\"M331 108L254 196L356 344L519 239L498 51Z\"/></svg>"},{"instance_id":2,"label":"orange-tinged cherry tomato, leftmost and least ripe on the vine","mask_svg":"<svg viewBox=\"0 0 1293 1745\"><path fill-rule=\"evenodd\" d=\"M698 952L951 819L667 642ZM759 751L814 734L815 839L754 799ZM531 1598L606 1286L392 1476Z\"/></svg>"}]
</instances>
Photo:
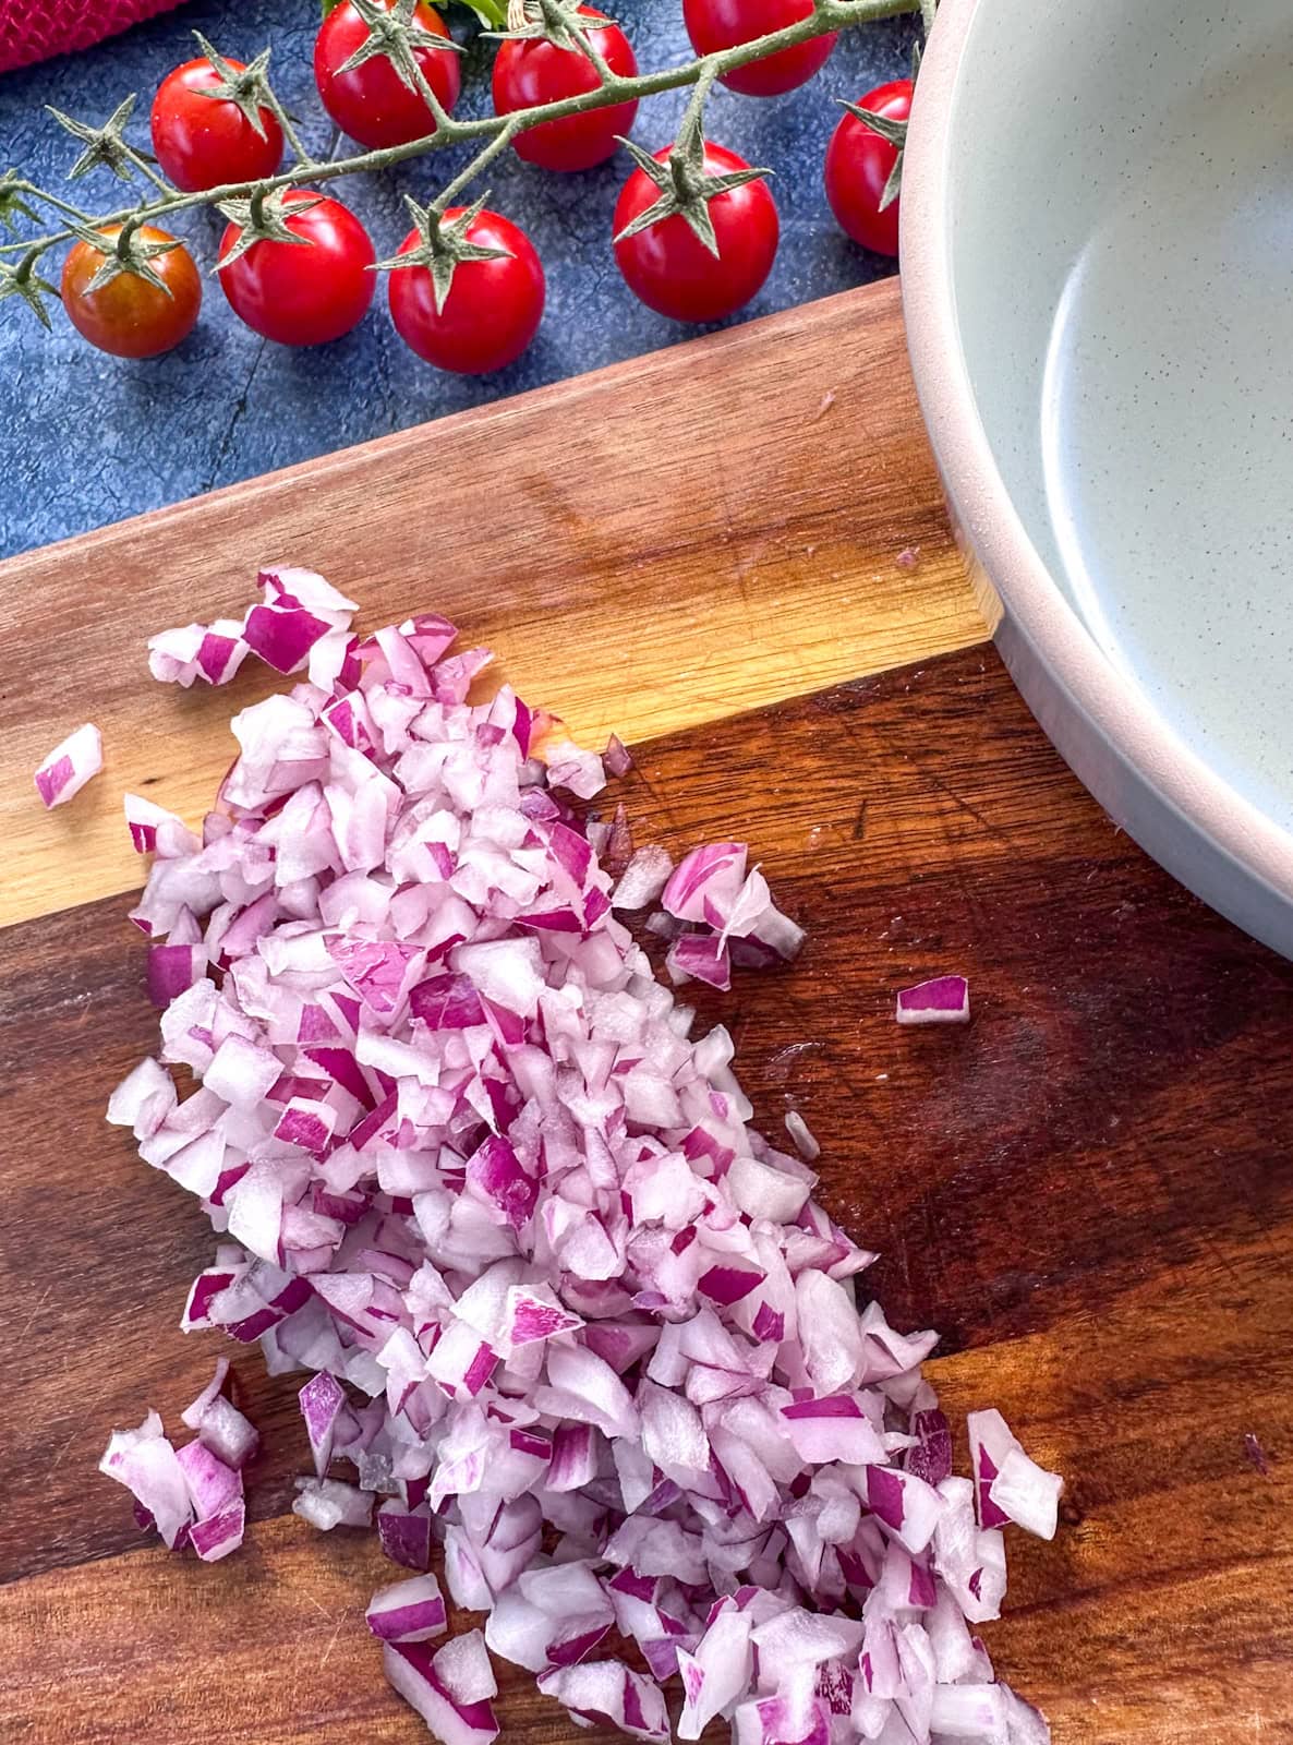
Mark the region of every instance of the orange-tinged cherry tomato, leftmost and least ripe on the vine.
<instances>
[{"instance_id":1,"label":"orange-tinged cherry tomato, leftmost and least ripe on the vine","mask_svg":"<svg viewBox=\"0 0 1293 1745\"><path fill-rule=\"evenodd\" d=\"M166 230L141 225L145 243L169 243ZM101 230L103 241L120 236L120 225ZM187 339L202 307L202 281L194 257L180 244L166 255L154 255L150 265L166 290L157 290L133 272L119 272L98 291L89 281L103 265L105 255L89 243L75 243L63 262L63 307L75 330L99 351L113 358L155 358Z\"/></svg>"}]
</instances>

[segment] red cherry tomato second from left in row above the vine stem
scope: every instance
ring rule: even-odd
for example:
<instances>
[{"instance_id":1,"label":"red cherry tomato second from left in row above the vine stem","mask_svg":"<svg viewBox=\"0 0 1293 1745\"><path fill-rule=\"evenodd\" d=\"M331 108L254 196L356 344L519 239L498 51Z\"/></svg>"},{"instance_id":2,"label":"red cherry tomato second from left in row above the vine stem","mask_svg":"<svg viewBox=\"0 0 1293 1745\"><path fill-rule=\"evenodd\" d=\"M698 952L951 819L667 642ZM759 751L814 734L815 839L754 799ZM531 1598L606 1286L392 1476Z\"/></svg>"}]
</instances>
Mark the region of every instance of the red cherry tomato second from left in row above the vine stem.
<instances>
[{"instance_id":1,"label":"red cherry tomato second from left in row above the vine stem","mask_svg":"<svg viewBox=\"0 0 1293 1745\"><path fill-rule=\"evenodd\" d=\"M389 12L394 0L380 0L380 3ZM426 0L419 0L414 23L433 37L448 40L445 21L426 5ZM375 54L349 73L340 72L366 40L368 26L351 0L342 0L325 17L323 28L314 38L314 82L326 112L342 133L349 133L370 152L387 145L407 145L410 140L434 133L436 124L431 110L422 101L421 92L408 89L389 56ZM415 49L414 58L443 108L452 110L462 84L457 52L454 49Z\"/></svg>"}]
</instances>

